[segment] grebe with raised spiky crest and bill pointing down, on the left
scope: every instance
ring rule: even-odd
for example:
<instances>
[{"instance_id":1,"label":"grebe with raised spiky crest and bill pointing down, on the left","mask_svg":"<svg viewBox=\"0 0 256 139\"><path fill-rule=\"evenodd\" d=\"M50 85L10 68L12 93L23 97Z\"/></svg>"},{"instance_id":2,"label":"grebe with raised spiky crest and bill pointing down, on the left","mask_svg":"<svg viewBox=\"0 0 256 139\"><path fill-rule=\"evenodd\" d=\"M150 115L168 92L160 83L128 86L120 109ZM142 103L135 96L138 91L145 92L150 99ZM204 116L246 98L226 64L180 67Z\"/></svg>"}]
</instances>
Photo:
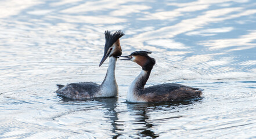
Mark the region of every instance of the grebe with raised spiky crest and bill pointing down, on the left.
<instances>
[{"instance_id":1,"label":"grebe with raised spiky crest and bill pointing down, on the left","mask_svg":"<svg viewBox=\"0 0 256 139\"><path fill-rule=\"evenodd\" d=\"M104 46L104 55L100 61L99 67L107 57L109 57L109 67L107 68L107 74L101 85L93 82L70 83L66 86L57 85L59 89L56 93L59 96L73 99L117 96L118 86L115 78L116 57L122 54L119 39L123 35L124 33L122 31L116 31L114 34L105 31L106 43Z\"/></svg>"}]
</instances>

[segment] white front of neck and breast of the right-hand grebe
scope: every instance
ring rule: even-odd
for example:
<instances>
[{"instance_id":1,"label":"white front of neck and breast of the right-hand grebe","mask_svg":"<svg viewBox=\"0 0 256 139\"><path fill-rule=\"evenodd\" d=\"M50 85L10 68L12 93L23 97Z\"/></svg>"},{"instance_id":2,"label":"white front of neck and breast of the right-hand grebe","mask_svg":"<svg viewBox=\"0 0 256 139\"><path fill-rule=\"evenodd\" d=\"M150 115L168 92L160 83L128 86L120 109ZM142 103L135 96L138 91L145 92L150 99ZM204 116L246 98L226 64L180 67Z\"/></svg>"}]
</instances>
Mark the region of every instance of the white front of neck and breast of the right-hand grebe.
<instances>
[{"instance_id":1,"label":"white front of neck and breast of the right-hand grebe","mask_svg":"<svg viewBox=\"0 0 256 139\"><path fill-rule=\"evenodd\" d=\"M147 76L147 72L142 70L139 76L137 76L135 80L132 82L132 84L129 86L127 93L127 101L132 103L143 102L143 100L138 97L138 83L141 82L141 80L145 78L145 76Z\"/></svg>"}]
</instances>

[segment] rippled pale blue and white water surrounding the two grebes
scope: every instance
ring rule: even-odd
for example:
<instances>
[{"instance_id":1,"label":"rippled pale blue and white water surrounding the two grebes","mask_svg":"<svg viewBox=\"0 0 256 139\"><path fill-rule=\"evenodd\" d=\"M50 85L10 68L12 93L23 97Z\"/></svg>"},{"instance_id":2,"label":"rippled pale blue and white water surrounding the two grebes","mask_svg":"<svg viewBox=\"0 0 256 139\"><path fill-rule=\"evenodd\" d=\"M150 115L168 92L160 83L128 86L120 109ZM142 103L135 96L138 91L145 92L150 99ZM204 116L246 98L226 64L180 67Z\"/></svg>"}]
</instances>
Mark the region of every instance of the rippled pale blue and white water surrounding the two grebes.
<instances>
[{"instance_id":1,"label":"rippled pale blue and white water surrounding the two grebes","mask_svg":"<svg viewBox=\"0 0 256 139\"><path fill-rule=\"evenodd\" d=\"M1 1L0 138L255 138L256 2ZM123 54L151 50L147 86L181 83L203 99L129 104L140 67L117 61L117 98L70 101L56 84L101 83L104 30Z\"/></svg>"}]
</instances>

